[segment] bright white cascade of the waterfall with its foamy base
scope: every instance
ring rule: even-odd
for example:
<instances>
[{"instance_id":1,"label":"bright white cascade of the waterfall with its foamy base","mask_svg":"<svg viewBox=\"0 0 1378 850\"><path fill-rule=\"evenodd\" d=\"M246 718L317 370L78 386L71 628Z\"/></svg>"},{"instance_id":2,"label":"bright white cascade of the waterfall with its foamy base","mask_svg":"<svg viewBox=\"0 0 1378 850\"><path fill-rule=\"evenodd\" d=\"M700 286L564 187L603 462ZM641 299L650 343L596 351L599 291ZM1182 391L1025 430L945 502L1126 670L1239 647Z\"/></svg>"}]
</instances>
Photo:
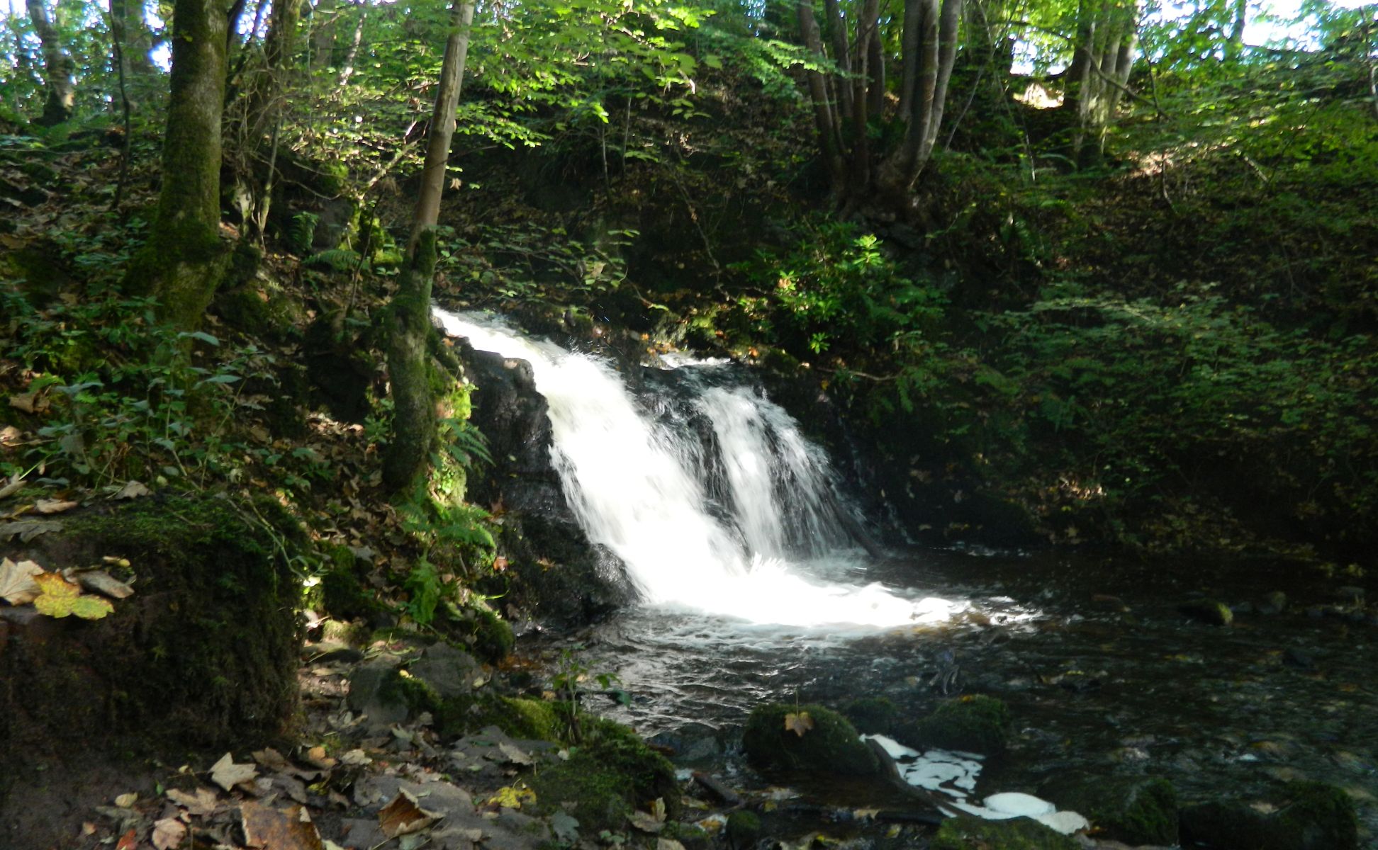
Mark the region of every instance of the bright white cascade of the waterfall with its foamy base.
<instances>
[{"instance_id":1,"label":"bright white cascade of the waterfall with its foamy base","mask_svg":"<svg viewBox=\"0 0 1378 850\"><path fill-rule=\"evenodd\" d=\"M802 627L903 625L952 613L941 599L847 580L864 552L839 522L827 459L762 395L685 382L695 390L690 409L670 405L664 419L678 427L667 427L604 360L492 318L434 315L474 349L531 362L565 496L588 539L626 563L644 602ZM712 445L689 427L693 416L707 420Z\"/></svg>"}]
</instances>

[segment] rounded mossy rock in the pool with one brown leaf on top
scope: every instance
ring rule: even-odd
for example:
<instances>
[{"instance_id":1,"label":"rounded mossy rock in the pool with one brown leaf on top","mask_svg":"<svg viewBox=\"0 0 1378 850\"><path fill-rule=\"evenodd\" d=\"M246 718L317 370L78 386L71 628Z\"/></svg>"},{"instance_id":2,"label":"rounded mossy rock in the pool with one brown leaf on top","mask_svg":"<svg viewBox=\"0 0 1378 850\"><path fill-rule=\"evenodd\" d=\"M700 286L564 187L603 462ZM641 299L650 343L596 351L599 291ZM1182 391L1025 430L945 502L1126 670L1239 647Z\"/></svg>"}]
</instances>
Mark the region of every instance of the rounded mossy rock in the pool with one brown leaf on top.
<instances>
[{"instance_id":1,"label":"rounded mossy rock in the pool with one brown leaf on top","mask_svg":"<svg viewBox=\"0 0 1378 850\"><path fill-rule=\"evenodd\" d=\"M787 715L808 714L812 727L798 734L785 726ZM875 754L856 727L823 705L759 705L747 718L741 738L747 758L758 767L783 767L817 773L865 776L876 771Z\"/></svg>"}]
</instances>

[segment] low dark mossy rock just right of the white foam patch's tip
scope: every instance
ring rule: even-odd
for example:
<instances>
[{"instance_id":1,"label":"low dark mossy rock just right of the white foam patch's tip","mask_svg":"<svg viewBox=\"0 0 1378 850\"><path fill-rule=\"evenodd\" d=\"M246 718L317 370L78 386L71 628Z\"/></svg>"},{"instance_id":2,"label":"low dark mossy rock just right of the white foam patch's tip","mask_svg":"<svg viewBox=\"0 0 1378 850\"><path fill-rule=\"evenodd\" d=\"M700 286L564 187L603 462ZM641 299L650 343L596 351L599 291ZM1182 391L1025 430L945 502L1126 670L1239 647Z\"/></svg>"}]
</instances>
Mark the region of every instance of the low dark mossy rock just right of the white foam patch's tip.
<instances>
[{"instance_id":1,"label":"low dark mossy rock just right of the white foam patch's tip","mask_svg":"<svg viewBox=\"0 0 1378 850\"><path fill-rule=\"evenodd\" d=\"M1067 777L1039 796L1083 814L1098 835L1129 844L1177 843L1177 791L1160 777Z\"/></svg>"}]
</instances>

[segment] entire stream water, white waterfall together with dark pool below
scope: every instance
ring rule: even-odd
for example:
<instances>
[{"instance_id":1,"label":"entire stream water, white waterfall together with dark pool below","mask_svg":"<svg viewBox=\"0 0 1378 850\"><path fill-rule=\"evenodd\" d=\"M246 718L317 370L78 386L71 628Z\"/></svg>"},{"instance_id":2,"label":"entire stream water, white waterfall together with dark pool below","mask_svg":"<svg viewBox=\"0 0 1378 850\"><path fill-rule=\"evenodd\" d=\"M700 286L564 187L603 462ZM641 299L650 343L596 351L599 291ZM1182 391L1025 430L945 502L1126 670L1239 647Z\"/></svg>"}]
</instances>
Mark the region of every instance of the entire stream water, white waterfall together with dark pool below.
<instances>
[{"instance_id":1,"label":"entire stream water, white waterfall together with dark pool below","mask_svg":"<svg viewBox=\"0 0 1378 850\"><path fill-rule=\"evenodd\" d=\"M1363 840L1378 835L1378 620L1338 591L1355 579L1064 552L876 558L828 459L740 369L678 358L633 391L597 357L437 318L532 364L569 504L642 599L580 639L635 696L609 714L644 733L732 773L733 730L761 701L886 696L923 714L989 693L1018 732L983 795L1067 771L1166 776L1189 799L1315 778L1350 789ZM1248 613L1268 591L1287 610ZM1184 616L1203 595L1240 606L1235 624Z\"/></svg>"}]
</instances>

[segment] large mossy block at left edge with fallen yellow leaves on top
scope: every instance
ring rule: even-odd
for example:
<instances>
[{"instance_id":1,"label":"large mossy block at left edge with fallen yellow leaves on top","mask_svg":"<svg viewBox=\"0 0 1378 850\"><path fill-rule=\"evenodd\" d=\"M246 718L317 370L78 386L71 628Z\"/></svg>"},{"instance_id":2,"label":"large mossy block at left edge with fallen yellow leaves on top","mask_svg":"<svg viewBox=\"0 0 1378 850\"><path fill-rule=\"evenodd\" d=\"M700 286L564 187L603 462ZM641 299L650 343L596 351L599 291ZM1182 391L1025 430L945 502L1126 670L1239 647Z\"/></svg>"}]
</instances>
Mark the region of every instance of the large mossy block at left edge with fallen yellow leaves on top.
<instances>
[{"instance_id":1,"label":"large mossy block at left edge with fallen yellow leaves on top","mask_svg":"<svg viewBox=\"0 0 1378 850\"><path fill-rule=\"evenodd\" d=\"M278 508L280 511L281 508ZM267 506L259 512L273 517ZM244 749L295 714L299 581L284 546L219 497L146 497L66 514L3 554L56 570L128 559L134 595L102 620L0 606L0 798L28 759ZM48 771L61 773L61 771Z\"/></svg>"}]
</instances>

